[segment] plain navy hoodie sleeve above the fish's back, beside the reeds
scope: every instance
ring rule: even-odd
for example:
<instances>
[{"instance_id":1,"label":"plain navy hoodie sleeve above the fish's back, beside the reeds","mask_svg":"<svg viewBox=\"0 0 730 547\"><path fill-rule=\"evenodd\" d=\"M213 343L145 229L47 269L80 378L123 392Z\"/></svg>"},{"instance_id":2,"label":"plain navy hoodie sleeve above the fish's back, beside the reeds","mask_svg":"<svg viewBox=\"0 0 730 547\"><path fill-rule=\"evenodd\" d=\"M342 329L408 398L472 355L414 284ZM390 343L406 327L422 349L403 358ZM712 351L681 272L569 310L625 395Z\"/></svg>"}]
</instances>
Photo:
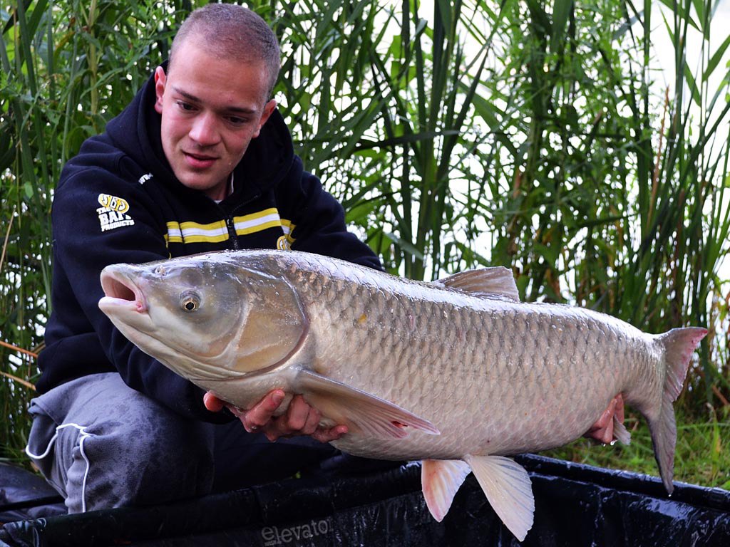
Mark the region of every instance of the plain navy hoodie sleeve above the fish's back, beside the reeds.
<instances>
[{"instance_id":1,"label":"plain navy hoodie sleeve above the fish's back, beside the reeds","mask_svg":"<svg viewBox=\"0 0 730 547\"><path fill-rule=\"evenodd\" d=\"M297 158L296 167L301 166ZM301 169L301 167L300 167ZM370 247L347 231L345 211L320 180L307 171L301 172L299 184L288 196L288 216L293 230L292 249L341 258L369 268L383 269L380 259ZM293 199L292 199L293 198Z\"/></svg>"}]
</instances>

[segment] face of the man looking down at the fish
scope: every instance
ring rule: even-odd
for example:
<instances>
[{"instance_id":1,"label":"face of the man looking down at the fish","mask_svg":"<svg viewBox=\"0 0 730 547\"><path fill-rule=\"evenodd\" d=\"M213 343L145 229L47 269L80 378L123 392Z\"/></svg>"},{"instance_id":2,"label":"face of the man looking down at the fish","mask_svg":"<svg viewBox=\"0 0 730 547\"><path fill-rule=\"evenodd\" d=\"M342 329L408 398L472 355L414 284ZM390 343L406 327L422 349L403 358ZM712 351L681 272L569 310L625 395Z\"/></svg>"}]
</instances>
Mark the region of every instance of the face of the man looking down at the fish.
<instances>
[{"instance_id":1,"label":"face of the man looking down at the fish","mask_svg":"<svg viewBox=\"0 0 730 547\"><path fill-rule=\"evenodd\" d=\"M266 102L266 69L209 55L192 38L171 68L155 71L165 157L183 185L223 199L231 171L276 107Z\"/></svg>"}]
</instances>

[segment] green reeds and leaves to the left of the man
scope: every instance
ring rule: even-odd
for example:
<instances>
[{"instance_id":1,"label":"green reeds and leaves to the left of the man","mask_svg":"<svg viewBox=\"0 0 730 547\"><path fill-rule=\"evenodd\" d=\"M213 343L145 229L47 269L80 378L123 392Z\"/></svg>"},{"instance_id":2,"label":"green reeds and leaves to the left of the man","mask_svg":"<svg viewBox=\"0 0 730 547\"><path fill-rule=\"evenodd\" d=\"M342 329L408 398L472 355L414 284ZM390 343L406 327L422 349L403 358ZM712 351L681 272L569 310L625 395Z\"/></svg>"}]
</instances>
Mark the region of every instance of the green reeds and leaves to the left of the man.
<instances>
[{"instance_id":1,"label":"green reeds and leaves to the left of the man","mask_svg":"<svg viewBox=\"0 0 730 547\"><path fill-rule=\"evenodd\" d=\"M0 338L14 347L0 347L0 458L18 459L50 314L55 182L166 55L180 15L109 0L13 2L1 14Z\"/></svg>"}]
</instances>

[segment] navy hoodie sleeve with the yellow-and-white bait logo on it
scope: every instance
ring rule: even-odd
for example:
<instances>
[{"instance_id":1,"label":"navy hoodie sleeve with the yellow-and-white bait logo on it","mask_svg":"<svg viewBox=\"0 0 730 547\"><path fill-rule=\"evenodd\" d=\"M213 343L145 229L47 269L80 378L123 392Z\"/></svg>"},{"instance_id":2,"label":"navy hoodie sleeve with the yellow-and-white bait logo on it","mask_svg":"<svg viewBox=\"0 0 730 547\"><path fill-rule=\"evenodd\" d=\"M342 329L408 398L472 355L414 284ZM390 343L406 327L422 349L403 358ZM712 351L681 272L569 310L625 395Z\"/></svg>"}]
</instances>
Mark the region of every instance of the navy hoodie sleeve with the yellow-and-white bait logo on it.
<instances>
[{"instance_id":1,"label":"navy hoodie sleeve with the yellow-and-white bait logo on it","mask_svg":"<svg viewBox=\"0 0 730 547\"><path fill-rule=\"evenodd\" d=\"M107 156L104 163L109 161ZM64 368L102 372L108 370L108 360L129 387L177 414L225 422L230 414L207 411L201 389L139 350L99 310L104 266L169 257L166 225L155 216L158 210L141 183L101 168L66 166L52 213L57 317L47 327L47 354L40 364L53 385L63 381L54 374L61 376Z\"/></svg>"}]
</instances>

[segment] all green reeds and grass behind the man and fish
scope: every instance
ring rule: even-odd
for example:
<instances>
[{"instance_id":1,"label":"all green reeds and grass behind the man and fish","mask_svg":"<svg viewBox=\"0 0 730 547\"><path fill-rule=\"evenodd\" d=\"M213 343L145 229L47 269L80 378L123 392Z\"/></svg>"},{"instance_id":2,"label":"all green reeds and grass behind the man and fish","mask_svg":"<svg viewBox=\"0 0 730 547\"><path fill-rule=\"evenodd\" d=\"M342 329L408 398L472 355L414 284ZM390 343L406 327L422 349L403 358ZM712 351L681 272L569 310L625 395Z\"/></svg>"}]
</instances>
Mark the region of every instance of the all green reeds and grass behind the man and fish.
<instances>
[{"instance_id":1,"label":"all green reeds and grass behind the man and fish","mask_svg":"<svg viewBox=\"0 0 730 547\"><path fill-rule=\"evenodd\" d=\"M0 341L41 346L61 167L200 3L0 3ZM390 271L507 265L525 300L710 328L678 403L677 477L727 485L730 38L716 6L250 5L283 44L277 98L305 165ZM0 458L21 459L34 358L0 347L0 373ZM561 454L656 474L637 427L628 448Z\"/></svg>"}]
</instances>

